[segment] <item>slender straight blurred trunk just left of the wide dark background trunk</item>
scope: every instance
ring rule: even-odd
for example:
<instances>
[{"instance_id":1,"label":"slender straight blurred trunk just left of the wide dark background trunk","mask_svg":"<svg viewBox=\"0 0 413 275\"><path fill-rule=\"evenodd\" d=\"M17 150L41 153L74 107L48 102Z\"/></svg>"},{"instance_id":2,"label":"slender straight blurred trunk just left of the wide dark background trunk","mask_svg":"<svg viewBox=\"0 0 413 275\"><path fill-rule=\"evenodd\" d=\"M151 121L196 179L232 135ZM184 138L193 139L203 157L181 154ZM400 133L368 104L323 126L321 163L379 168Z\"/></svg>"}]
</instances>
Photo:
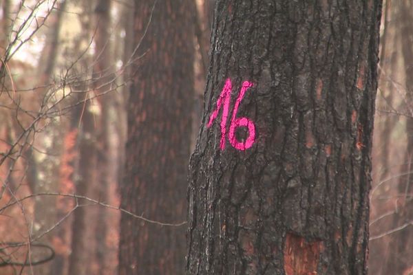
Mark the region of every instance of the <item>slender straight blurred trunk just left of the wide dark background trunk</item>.
<instances>
[{"instance_id":1,"label":"slender straight blurred trunk just left of the wide dark background trunk","mask_svg":"<svg viewBox=\"0 0 413 275\"><path fill-rule=\"evenodd\" d=\"M111 158L115 157L111 150L110 140L110 114L112 112L112 106L114 104L114 86L113 75L111 65L111 43L110 43L110 20L111 1L99 0L96 8L96 52L95 52L95 65L94 65L94 89L98 95L100 95L99 102L101 108L100 115L100 129L98 130L98 167L99 180L96 185L96 195L101 201L108 201L109 199L109 184L116 181L116 165L113 165ZM98 266L98 274L113 274L113 271L109 270L109 250L106 245L106 236L108 232L109 223L107 221L107 209L97 209L97 221L95 229L96 239L96 261Z\"/></svg>"}]
</instances>

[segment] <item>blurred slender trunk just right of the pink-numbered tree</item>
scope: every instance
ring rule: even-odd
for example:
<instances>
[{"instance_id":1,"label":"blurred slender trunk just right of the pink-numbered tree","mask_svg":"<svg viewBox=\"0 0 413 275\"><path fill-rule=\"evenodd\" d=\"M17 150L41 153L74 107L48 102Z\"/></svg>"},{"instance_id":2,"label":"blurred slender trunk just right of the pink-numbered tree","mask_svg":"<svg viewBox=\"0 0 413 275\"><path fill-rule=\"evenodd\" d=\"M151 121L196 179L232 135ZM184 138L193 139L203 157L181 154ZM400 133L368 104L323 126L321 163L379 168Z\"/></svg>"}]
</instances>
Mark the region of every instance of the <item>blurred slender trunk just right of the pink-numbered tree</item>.
<instances>
[{"instance_id":1,"label":"blurred slender trunk just right of the pink-numbered tree","mask_svg":"<svg viewBox=\"0 0 413 275\"><path fill-rule=\"evenodd\" d=\"M398 94L396 83L399 83L398 77L403 74L401 74L403 68L399 65L401 61L401 34L399 31L401 19L398 1L386 0L383 12L385 12L385 19L383 35L380 39L380 95L376 102L378 109L394 111L396 104L398 104L399 101L396 98L396 95ZM397 123L403 122L401 122L394 113L379 111L374 119L374 123L374 145L372 149L372 174L374 175L372 178L373 188L374 184L380 184L381 181L388 179L391 175L399 174L401 167L402 170L405 168L403 164L400 165L401 162L404 162L405 160L397 154L399 147L394 146L394 134L396 133ZM405 170L403 170L403 173L404 172ZM404 177L402 178L404 179ZM398 180L398 178L394 179L394 181ZM395 210L393 199L389 199L385 202L379 199L379 197L382 196L391 197L392 195L396 195L398 192L397 188L388 190L388 186L391 186L390 181L386 182L385 188L380 188L380 190L374 192L370 197L370 219L373 221L382 217L383 214ZM396 186L396 184L394 184L394 186ZM383 219L370 223L370 236L374 237L377 234L384 232L386 228L392 228L392 226L397 223L395 219L397 218L394 215L388 215ZM393 269L397 265L396 262L399 261L399 255L396 255L394 251L394 239L392 236L370 241L370 274L393 274Z\"/></svg>"}]
</instances>

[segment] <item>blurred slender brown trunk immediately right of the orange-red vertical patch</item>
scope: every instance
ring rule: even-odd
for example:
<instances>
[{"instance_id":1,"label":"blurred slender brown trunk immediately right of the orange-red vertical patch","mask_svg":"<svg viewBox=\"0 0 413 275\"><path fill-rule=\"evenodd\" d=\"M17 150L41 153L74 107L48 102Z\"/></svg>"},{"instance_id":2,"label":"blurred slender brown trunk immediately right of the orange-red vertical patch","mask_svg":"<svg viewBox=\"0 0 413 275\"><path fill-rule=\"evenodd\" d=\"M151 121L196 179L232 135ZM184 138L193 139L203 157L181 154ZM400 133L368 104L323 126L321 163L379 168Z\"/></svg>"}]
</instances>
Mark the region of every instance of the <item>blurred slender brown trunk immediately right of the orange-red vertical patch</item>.
<instances>
[{"instance_id":1,"label":"blurred slender brown trunk immediately right of the orange-red vertical patch","mask_svg":"<svg viewBox=\"0 0 413 275\"><path fill-rule=\"evenodd\" d=\"M83 17L81 24L83 28L81 40L90 39L95 1L83 3ZM79 41L80 42L80 41ZM79 43L81 44L81 43ZM90 65L89 58L83 59L81 65L87 68ZM79 83L78 91L85 91L78 96L78 100L94 98L96 94L89 91L87 83ZM96 131L98 131L98 113L96 113L96 98L87 100L76 109L73 116L74 125L78 126L78 164L76 169L76 194L96 198L95 186L97 177L97 144ZM96 212L87 208L87 201L77 200L81 207L76 209L72 222L72 247L69 259L68 275L92 274L92 263L94 262L94 222Z\"/></svg>"}]
</instances>

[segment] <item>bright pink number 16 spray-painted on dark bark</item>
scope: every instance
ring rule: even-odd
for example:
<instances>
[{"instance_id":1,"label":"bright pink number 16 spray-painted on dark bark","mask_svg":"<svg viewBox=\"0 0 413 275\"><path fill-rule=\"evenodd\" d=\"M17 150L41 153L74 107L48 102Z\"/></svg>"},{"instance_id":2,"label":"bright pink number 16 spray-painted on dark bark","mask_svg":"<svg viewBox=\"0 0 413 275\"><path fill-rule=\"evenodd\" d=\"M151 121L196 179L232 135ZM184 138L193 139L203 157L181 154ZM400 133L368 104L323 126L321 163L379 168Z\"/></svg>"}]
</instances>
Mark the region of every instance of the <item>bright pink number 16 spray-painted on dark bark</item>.
<instances>
[{"instance_id":1,"label":"bright pink number 16 spray-painted on dark bark","mask_svg":"<svg viewBox=\"0 0 413 275\"><path fill-rule=\"evenodd\" d=\"M233 109L232 117L231 117L231 124L229 125L229 142L231 145L236 148L237 150L244 151L251 146L253 146L255 142L255 124L252 120L248 118L237 118L237 111L238 107L240 107L241 101L245 96L245 92L249 87L253 87L253 83L249 81L244 81L242 83L240 94L238 94L237 100L235 101L235 106ZM231 101L231 91L232 91L232 83L231 79L227 79L225 81L224 89L220 94L220 97L217 100L217 109L211 113L209 117L209 122L207 124L208 128L212 126L215 118L218 116L218 112L222 107L222 103L224 104L224 110L222 111L222 119L221 119L221 140L220 140L220 148L224 150L225 148L225 137L226 137L226 121L228 120L229 116L229 104ZM235 131L238 127L247 127L248 128L248 138L244 142L237 141L235 137Z\"/></svg>"}]
</instances>

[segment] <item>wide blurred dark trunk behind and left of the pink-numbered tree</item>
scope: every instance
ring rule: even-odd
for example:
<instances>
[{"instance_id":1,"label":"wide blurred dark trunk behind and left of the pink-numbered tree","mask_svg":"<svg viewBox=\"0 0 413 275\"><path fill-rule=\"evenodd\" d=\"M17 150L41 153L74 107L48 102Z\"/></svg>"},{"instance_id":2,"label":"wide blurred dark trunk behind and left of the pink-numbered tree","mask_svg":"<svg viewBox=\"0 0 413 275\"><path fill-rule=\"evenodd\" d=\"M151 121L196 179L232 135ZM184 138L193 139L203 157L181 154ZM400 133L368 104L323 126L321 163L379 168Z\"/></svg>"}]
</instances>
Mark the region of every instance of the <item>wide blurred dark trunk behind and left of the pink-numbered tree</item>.
<instances>
[{"instance_id":1,"label":"wide blurred dark trunk behind and left of the pink-numbered tree","mask_svg":"<svg viewBox=\"0 0 413 275\"><path fill-rule=\"evenodd\" d=\"M135 1L134 45L141 43L129 95L121 206L167 223L184 221L186 213L194 8L191 0ZM182 273L184 226L145 223L127 214L120 224L119 274Z\"/></svg>"}]
</instances>

